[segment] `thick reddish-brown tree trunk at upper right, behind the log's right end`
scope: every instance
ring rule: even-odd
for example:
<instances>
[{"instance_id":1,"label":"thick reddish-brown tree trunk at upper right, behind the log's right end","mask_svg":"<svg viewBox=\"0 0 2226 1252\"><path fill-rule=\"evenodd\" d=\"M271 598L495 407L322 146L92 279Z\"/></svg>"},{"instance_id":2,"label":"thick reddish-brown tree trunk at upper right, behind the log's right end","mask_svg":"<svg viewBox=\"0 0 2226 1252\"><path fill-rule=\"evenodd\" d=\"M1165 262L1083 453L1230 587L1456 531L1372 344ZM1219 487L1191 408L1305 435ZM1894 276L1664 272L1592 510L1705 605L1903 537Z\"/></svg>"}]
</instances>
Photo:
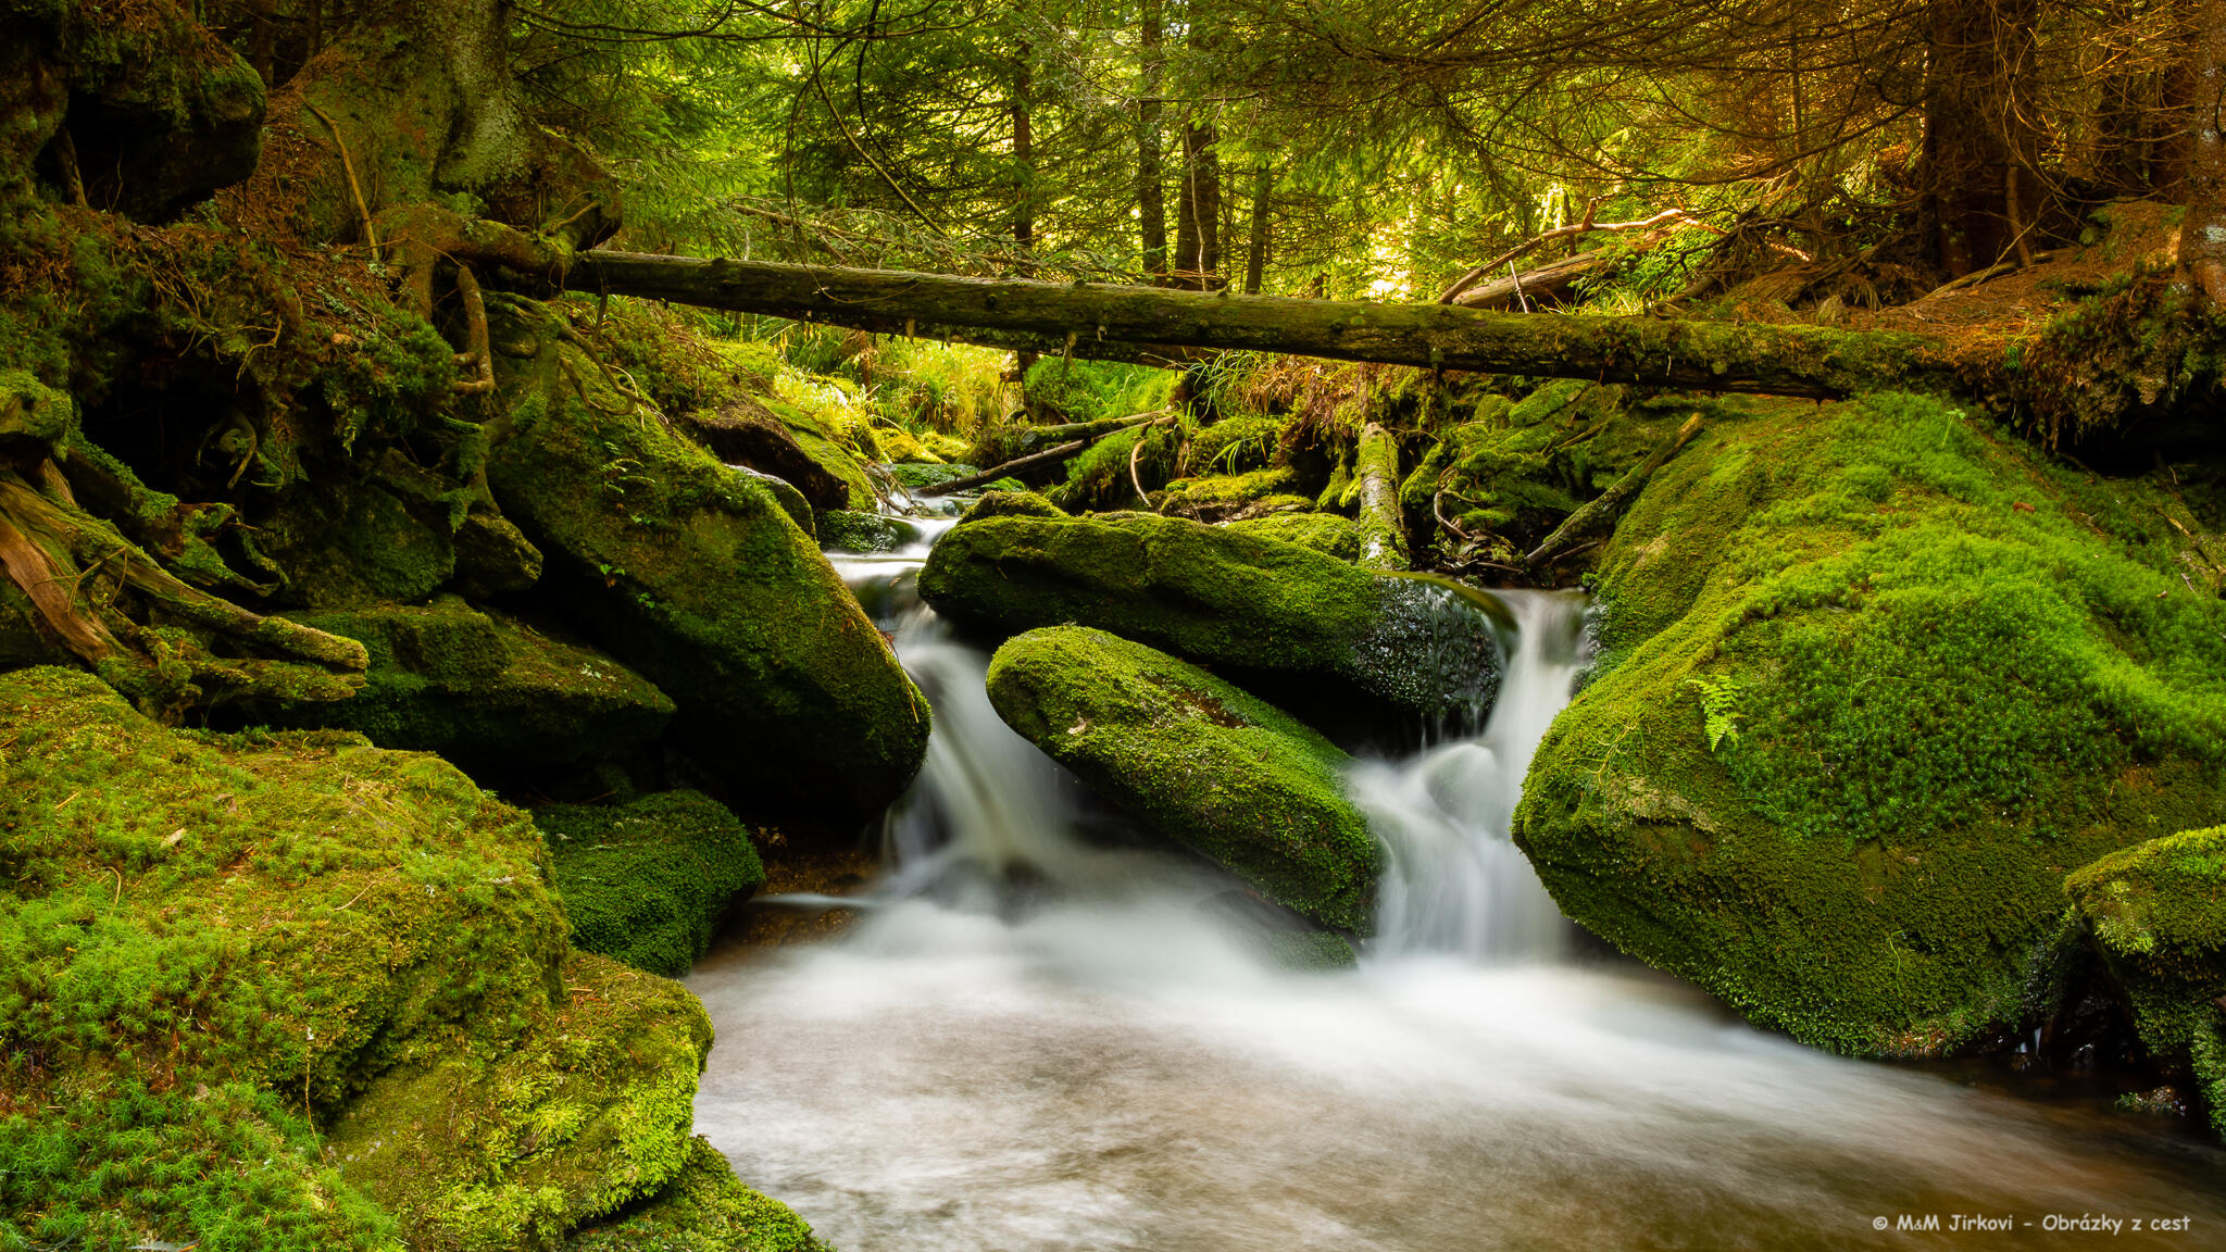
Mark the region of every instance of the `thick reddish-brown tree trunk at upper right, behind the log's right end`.
<instances>
[{"instance_id":1,"label":"thick reddish-brown tree trunk at upper right, behind the log's right end","mask_svg":"<svg viewBox=\"0 0 2226 1252\"><path fill-rule=\"evenodd\" d=\"M2008 256L2039 216L2039 136L2026 98L2037 0L1932 0L1925 40L1923 216L1950 276Z\"/></svg>"}]
</instances>

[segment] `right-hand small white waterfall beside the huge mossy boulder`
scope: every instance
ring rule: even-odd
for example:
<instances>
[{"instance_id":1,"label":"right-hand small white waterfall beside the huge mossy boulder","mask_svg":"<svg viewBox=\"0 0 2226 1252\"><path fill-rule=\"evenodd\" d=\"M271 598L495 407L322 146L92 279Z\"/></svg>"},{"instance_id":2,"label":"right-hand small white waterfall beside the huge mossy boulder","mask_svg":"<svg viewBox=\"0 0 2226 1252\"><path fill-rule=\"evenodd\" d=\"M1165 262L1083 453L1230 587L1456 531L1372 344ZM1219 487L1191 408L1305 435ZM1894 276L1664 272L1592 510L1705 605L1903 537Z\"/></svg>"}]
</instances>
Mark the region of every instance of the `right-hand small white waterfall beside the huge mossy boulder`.
<instances>
[{"instance_id":1,"label":"right-hand small white waterfall beside the huge mossy boulder","mask_svg":"<svg viewBox=\"0 0 2226 1252\"><path fill-rule=\"evenodd\" d=\"M1585 597L1494 595L1514 628L1500 635L1500 693L1483 733L1353 766L1353 800L1387 851L1373 956L1536 960L1567 938L1560 909L1507 833L1531 755L1585 664Z\"/></svg>"}]
</instances>

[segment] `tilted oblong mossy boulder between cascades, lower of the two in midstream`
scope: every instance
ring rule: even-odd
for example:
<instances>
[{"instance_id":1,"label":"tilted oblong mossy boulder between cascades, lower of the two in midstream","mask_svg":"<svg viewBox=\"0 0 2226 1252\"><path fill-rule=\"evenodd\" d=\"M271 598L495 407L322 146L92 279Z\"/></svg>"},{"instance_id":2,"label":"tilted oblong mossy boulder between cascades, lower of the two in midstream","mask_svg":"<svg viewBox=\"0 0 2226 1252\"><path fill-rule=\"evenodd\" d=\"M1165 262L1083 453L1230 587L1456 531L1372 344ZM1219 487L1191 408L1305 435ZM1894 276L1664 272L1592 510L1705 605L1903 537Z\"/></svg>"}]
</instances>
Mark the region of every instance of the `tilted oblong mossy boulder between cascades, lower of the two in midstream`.
<instances>
[{"instance_id":1,"label":"tilted oblong mossy boulder between cascades, lower of the two in midstream","mask_svg":"<svg viewBox=\"0 0 2226 1252\"><path fill-rule=\"evenodd\" d=\"M1345 753L1166 653L1084 626L1028 630L988 668L997 715L1102 795L1264 896L1369 929L1380 851Z\"/></svg>"}]
</instances>

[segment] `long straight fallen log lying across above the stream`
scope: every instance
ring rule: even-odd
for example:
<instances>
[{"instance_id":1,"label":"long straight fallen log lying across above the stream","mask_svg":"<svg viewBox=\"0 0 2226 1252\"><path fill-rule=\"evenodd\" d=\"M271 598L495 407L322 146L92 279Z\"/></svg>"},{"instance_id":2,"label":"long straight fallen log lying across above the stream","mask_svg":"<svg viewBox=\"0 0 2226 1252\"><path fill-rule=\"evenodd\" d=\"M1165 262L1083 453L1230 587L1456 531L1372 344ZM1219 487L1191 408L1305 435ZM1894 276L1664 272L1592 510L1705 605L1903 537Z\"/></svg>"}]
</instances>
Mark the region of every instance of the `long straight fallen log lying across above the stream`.
<instances>
[{"instance_id":1,"label":"long straight fallen log lying across above the stream","mask_svg":"<svg viewBox=\"0 0 2226 1252\"><path fill-rule=\"evenodd\" d=\"M1120 361L1175 345L1814 399L1952 383L1937 339L1823 325L1500 314L634 252L583 252L565 285Z\"/></svg>"}]
</instances>

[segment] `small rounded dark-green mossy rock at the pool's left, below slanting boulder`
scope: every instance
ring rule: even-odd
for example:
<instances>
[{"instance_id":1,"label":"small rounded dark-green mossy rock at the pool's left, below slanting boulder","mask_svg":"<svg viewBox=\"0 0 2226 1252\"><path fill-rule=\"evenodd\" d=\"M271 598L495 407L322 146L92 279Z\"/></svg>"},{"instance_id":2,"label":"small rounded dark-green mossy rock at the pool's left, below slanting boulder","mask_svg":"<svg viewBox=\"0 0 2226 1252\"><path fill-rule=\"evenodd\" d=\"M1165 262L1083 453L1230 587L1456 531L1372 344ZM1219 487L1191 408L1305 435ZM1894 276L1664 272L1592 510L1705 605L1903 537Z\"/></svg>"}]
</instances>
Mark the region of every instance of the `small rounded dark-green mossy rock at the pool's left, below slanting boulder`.
<instances>
[{"instance_id":1,"label":"small rounded dark-green mossy rock at the pool's left, below slanting boulder","mask_svg":"<svg viewBox=\"0 0 2226 1252\"><path fill-rule=\"evenodd\" d=\"M572 947L650 974L688 974L719 918L766 884L748 826L701 791L543 804L534 824L556 864Z\"/></svg>"}]
</instances>

